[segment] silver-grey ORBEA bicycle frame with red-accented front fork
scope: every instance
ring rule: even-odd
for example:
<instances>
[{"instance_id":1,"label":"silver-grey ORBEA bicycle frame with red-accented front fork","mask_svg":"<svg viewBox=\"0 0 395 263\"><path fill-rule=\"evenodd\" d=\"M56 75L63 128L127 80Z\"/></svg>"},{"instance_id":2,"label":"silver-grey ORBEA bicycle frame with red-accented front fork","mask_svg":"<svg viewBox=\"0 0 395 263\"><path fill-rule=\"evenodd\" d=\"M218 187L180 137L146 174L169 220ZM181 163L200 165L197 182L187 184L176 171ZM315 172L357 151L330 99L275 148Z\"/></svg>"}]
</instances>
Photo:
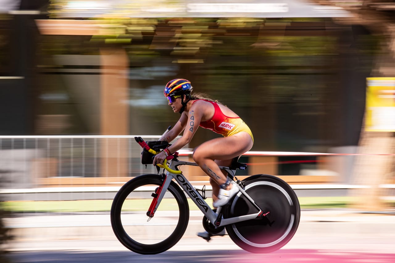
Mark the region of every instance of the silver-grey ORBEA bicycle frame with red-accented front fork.
<instances>
[{"instance_id":1,"label":"silver-grey ORBEA bicycle frame with red-accented front fork","mask_svg":"<svg viewBox=\"0 0 395 263\"><path fill-rule=\"evenodd\" d=\"M192 166L198 166L197 163L194 162L186 162L186 161L180 161L180 160L171 160L169 163L169 168L171 170L176 170L180 171L178 169L179 166L181 165L192 165ZM229 167L225 166L220 166L220 169L224 169L231 175L233 178L235 176L236 170L232 170ZM190 184L190 182L182 175L180 174L175 174L171 173L170 171L167 171L166 173L166 178L162 184L162 187L158 191L158 196L157 198L155 197L154 200L152 201L151 207L149 209L149 212L147 212L147 215L152 217L154 215L154 212L158 208L160 202L162 201L165 192L171 182L172 179L175 179L177 183L181 186L181 188L184 190L184 192L187 193L187 195L194 201L196 206L203 212L203 214L210 220L210 222L215 225L216 227L222 227L224 225L229 225L229 224L234 224L237 222L245 221L245 220L251 220L257 217L262 217L265 216L267 213L264 213L258 205L255 204L254 200L241 188L239 185L240 192L237 194L238 196L241 196L243 194L258 210L257 213L255 214L248 214L244 216L237 216L237 217L232 217L232 218L222 218L222 213L221 213L221 207L217 209L216 212L211 209L211 207L204 201L204 199L201 197L200 193ZM233 185L235 186L235 185ZM150 214L149 214L150 213ZM152 216L151 216L152 215Z\"/></svg>"}]
</instances>

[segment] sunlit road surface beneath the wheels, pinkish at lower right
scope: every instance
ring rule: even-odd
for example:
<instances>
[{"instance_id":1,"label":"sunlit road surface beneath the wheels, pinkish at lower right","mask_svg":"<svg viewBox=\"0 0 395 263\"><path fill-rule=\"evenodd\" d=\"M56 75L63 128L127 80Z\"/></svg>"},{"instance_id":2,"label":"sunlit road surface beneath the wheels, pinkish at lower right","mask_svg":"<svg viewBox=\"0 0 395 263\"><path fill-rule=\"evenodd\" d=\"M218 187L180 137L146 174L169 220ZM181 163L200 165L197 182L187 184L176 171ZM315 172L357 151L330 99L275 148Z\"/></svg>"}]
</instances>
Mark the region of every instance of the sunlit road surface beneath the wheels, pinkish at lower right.
<instances>
[{"instance_id":1,"label":"sunlit road surface beneath the wheels, pinkish at lower right","mask_svg":"<svg viewBox=\"0 0 395 263\"><path fill-rule=\"evenodd\" d=\"M170 250L158 255L140 255L127 251L114 240L69 240L57 243L56 250L13 252L12 262L395 262L394 237L331 237L295 235L282 249L270 254L251 254L218 237L210 243L200 239L182 239Z\"/></svg>"}]
</instances>

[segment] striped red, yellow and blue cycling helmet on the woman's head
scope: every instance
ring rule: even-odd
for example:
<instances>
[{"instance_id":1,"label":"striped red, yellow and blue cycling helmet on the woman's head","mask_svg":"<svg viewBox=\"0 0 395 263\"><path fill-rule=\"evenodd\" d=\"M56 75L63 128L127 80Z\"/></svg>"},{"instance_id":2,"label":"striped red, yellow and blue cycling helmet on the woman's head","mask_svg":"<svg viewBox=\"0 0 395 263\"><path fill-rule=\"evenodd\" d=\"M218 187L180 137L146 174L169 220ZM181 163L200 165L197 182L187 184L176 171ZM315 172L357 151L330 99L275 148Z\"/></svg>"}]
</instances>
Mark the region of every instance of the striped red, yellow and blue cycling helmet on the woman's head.
<instances>
[{"instance_id":1,"label":"striped red, yellow and blue cycling helmet on the woman's head","mask_svg":"<svg viewBox=\"0 0 395 263\"><path fill-rule=\"evenodd\" d=\"M180 114L184 112L184 109L186 107L186 103L191 98L191 92L192 92L192 85L191 82L186 80L186 79L172 79L166 84L165 90L164 90L164 95L165 97L172 97L172 96L181 96L181 110ZM184 96L185 95L185 101L184 101ZM168 98L169 100L169 98ZM169 100L171 101L171 100Z\"/></svg>"}]
</instances>

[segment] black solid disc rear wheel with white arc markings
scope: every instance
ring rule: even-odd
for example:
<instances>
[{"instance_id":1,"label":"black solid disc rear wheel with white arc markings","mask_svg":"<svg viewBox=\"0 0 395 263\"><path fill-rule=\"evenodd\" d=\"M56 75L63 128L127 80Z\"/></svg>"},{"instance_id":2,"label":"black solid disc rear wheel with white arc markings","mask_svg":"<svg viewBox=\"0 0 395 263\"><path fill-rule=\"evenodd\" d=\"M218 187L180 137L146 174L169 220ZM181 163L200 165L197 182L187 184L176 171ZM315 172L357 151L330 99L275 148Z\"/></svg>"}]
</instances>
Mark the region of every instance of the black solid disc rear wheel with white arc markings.
<instances>
[{"instance_id":1,"label":"black solid disc rear wheel with white arc markings","mask_svg":"<svg viewBox=\"0 0 395 263\"><path fill-rule=\"evenodd\" d=\"M300 221L297 195L284 180L272 175L253 175L243 180L245 191L264 211L262 218L226 225L229 237L240 248L252 253L269 253L282 248L295 234ZM258 210L238 193L224 218L252 214Z\"/></svg>"}]
</instances>

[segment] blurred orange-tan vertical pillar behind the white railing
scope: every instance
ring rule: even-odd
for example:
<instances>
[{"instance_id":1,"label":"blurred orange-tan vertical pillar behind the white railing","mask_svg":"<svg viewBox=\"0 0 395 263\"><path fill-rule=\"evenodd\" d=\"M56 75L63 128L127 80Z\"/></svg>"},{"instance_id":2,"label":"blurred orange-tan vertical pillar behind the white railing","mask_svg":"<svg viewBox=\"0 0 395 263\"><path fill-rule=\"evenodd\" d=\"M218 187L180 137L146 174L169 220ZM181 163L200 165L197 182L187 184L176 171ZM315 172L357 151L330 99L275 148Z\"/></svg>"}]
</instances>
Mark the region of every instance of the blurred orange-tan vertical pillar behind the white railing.
<instances>
[{"instance_id":1,"label":"blurred orange-tan vertical pillar behind the white railing","mask_svg":"<svg viewBox=\"0 0 395 263\"><path fill-rule=\"evenodd\" d=\"M129 134L128 56L124 49L101 49L100 131L102 135ZM126 139L103 139L102 177L128 173Z\"/></svg>"}]
</instances>

